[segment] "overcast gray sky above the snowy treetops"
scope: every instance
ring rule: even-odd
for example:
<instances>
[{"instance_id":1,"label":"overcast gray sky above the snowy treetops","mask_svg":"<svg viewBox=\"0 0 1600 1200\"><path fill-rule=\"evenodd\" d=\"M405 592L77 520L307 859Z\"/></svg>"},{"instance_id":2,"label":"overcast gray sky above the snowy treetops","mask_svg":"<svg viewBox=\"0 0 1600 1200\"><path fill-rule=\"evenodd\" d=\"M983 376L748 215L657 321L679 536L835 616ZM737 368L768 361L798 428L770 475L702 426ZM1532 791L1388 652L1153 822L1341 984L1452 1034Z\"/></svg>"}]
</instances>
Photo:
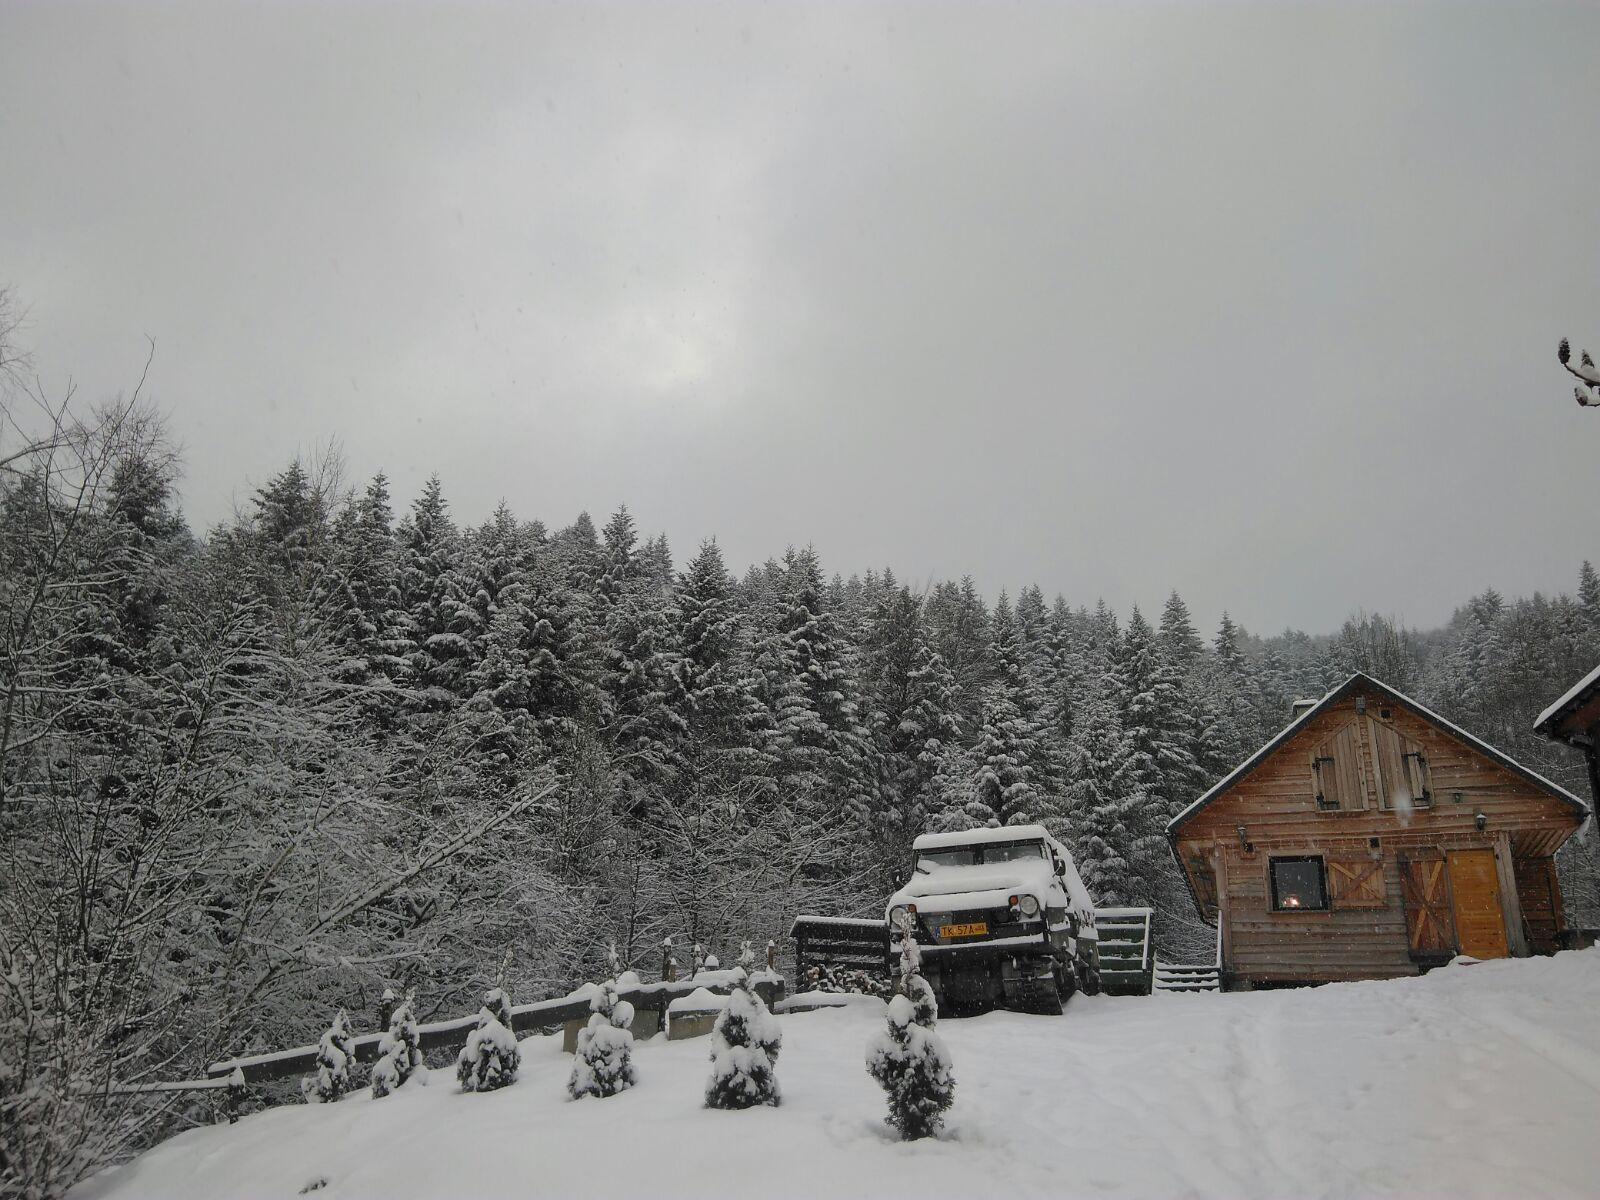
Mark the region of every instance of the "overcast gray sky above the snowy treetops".
<instances>
[{"instance_id":1,"label":"overcast gray sky above the snowy treetops","mask_svg":"<svg viewBox=\"0 0 1600 1200\"><path fill-rule=\"evenodd\" d=\"M1600 5L0 5L0 282L190 520L1443 621L1600 560Z\"/></svg>"}]
</instances>

